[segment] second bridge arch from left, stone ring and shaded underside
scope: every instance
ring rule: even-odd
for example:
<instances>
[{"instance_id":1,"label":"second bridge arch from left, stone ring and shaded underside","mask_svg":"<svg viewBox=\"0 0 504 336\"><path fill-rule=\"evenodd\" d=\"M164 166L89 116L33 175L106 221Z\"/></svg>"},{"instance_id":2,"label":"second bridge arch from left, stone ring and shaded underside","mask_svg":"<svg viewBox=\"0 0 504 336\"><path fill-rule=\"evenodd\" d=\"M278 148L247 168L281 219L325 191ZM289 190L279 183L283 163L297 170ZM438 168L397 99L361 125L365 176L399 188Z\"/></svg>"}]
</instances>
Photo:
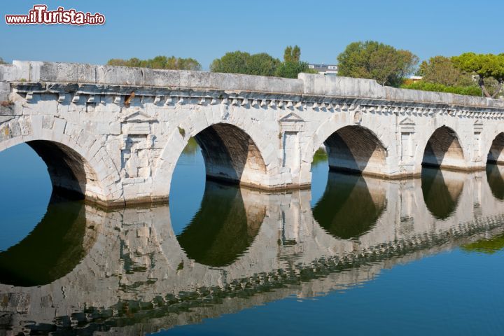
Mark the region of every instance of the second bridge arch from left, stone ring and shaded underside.
<instances>
[{"instance_id":1,"label":"second bridge arch from left, stone ring and shaded underside","mask_svg":"<svg viewBox=\"0 0 504 336\"><path fill-rule=\"evenodd\" d=\"M169 195L176 163L192 137L202 148L207 178L255 188L269 186L267 170L278 162L259 125L245 127L233 120L194 123L188 118L172 132L158 159L154 195Z\"/></svg>"}]
</instances>

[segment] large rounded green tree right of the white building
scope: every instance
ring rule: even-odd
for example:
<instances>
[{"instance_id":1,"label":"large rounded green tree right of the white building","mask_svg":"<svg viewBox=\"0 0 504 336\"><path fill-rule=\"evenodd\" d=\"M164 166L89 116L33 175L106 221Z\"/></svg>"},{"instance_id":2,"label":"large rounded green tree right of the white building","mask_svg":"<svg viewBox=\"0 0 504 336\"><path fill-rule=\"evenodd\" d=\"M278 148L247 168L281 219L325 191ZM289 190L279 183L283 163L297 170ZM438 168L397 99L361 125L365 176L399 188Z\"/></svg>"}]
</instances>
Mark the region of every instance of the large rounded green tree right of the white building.
<instances>
[{"instance_id":1,"label":"large rounded green tree right of the white building","mask_svg":"<svg viewBox=\"0 0 504 336\"><path fill-rule=\"evenodd\" d=\"M412 52L377 41L350 43L337 60L339 76L371 78L381 85L395 87L414 72L419 62Z\"/></svg>"}]
</instances>

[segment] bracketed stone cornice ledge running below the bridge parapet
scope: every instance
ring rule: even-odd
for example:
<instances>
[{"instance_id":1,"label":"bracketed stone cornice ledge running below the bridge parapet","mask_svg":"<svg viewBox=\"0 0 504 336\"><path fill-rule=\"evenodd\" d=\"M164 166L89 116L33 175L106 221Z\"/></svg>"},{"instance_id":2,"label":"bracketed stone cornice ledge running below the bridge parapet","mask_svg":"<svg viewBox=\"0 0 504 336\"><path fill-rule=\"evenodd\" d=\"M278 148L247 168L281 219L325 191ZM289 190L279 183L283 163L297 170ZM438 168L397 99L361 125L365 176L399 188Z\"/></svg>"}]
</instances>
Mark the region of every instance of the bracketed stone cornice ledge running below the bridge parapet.
<instances>
[{"instance_id":1,"label":"bracketed stone cornice ledge running below the bridge parapet","mask_svg":"<svg viewBox=\"0 0 504 336\"><path fill-rule=\"evenodd\" d=\"M354 79L354 78L351 78ZM1 82L0 82L1 83ZM10 85L15 88L15 90L20 94L27 94L26 99L31 101L34 94L57 94L59 98L63 97L62 102L64 102L65 97L69 94L71 95L70 101L77 97L93 97L97 99L95 103L103 103L101 98L97 97L112 97L115 104L123 104L125 97L129 96L131 92L135 93L135 97L146 97L152 99L151 103L157 106L174 106L179 104L179 99L183 98L185 101L183 104L200 104L200 105L214 105L214 104L232 104L240 106L254 106L254 107L265 107L272 106L276 109L284 109L290 111L296 111L300 109L312 108L317 111L329 111L329 110L342 110L346 111L353 109L360 109L362 111L369 110L371 113L400 113L411 115L412 113L421 113L424 115L432 116L436 111L434 110L446 110L443 113L452 113L454 110L457 113L463 113L462 116L466 116L468 113L494 113L492 116L500 115L504 112L504 106L498 106L498 104L491 104L491 106L478 106L476 104L463 104L468 103L464 101L453 101L453 102L421 102L415 100L404 100L404 99L379 99L372 97L351 97L351 96L322 96L315 94L289 94L289 93L270 93L270 92L258 92L258 91L239 91L234 92L226 90L217 89L193 89L193 88L167 88L167 87L153 87L153 86L134 86L134 85L111 85L111 84L79 84L79 83L41 83L41 82L10 82ZM388 90L389 87L386 87ZM393 90L399 90L390 88ZM403 91L403 90L400 90ZM414 91L414 90L407 90ZM423 91L420 91L424 93ZM427 92L436 93L436 92ZM466 96L463 96L466 97ZM57 99L58 97L55 97ZM188 99L198 99L197 102L190 102ZM471 98L471 97L470 97ZM476 97L479 98L479 97ZM169 99L169 100L167 100ZM490 99L492 101L501 101L498 99ZM235 103L233 103L235 102ZM264 102L267 105L263 106ZM283 103L283 106L279 104ZM286 104L290 103L290 107ZM297 107L297 104L301 104ZM307 106L306 104L314 104ZM375 108L375 109L373 109ZM380 111L376 109L381 108ZM386 109L385 109L386 108ZM397 109L395 109L397 108ZM392 109L392 110L391 110ZM413 111L413 109L418 109ZM430 109L432 111L426 111ZM497 113L497 114L495 114ZM459 116L459 114L457 114ZM480 116L482 116L480 114Z\"/></svg>"}]
</instances>

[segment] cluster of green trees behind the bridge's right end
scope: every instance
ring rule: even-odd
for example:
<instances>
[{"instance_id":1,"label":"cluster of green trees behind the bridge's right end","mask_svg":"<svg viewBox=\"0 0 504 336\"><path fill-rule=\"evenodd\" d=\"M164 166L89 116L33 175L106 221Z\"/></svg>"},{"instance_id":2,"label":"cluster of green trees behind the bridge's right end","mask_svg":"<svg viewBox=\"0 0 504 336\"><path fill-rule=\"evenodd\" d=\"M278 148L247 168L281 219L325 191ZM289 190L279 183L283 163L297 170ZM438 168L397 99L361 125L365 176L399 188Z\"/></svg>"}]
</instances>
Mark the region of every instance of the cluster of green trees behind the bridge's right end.
<instances>
[{"instance_id":1,"label":"cluster of green trees behind the bridge's right end","mask_svg":"<svg viewBox=\"0 0 504 336\"><path fill-rule=\"evenodd\" d=\"M416 68L419 58L412 52L365 41L350 43L337 60L339 76L371 78L382 85L407 89L495 98L501 94L504 82L504 54L435 56ZM407 76L412 73L421 80L409 80Z\"/></svg>"}]
</instances>

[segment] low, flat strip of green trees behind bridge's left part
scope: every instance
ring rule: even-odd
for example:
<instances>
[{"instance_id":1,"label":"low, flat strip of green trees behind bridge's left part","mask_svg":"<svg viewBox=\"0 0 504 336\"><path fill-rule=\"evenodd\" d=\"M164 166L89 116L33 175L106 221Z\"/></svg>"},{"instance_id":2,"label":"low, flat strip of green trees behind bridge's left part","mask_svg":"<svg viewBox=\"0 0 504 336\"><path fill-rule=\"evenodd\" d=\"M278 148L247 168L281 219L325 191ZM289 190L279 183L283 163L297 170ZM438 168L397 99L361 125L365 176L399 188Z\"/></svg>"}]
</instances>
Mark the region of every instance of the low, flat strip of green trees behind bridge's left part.
<instances>
[{"instance_id":1,"label":"low, flat strip of green trees behind bridge's left part","mask_svg":"<svg viewBox=\"0 0 504 336\"><path fill-rule=\"evenodd\" d=\"M133 57L130 59L113 58L109 59L108 65L115 66L135 66L151 69L172 69L172 70L201 70L201 64L193 58L179 58L156 56L152 59L138 59Z\"/></svg>"}]
</instances>

